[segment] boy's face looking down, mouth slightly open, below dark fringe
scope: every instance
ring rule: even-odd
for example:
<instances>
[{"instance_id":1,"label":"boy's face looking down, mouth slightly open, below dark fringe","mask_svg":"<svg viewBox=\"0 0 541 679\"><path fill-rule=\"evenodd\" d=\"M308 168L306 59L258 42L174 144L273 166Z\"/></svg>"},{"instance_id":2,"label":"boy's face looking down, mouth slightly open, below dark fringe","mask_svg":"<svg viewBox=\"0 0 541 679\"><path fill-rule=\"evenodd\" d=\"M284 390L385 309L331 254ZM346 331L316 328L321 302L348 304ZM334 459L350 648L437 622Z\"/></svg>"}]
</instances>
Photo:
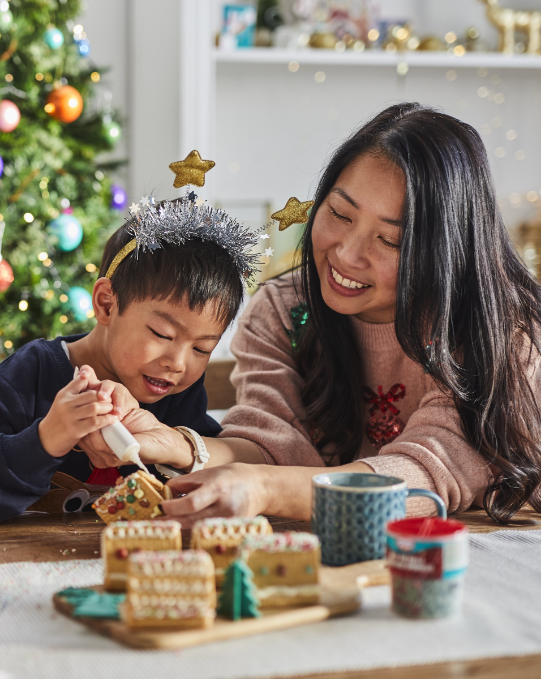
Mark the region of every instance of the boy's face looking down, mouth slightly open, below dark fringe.
<instances>
[{"instance_id":1,"label":"boy's face looking down, mouth slightly open, below dark fringe","mask_svg":"<svg viewBox=\"0 0 541 679\"><path fill-rule=\"evenodd\" d=\"M119 315L116 297L103 327L109 368L140 403L155 403L194 384L225 330L212 303L132 302Z\"/></svg>"}]
</instances>

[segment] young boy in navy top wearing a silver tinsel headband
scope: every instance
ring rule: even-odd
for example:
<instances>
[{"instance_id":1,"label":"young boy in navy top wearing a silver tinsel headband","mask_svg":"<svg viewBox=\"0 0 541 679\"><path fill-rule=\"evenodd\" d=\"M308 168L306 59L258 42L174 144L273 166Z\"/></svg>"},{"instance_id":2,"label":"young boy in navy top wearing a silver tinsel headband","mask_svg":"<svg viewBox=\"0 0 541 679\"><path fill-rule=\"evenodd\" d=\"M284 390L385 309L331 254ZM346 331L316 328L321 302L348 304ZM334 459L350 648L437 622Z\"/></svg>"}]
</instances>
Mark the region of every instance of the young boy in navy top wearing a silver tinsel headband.
<instances>
[{"instance_id":1,"label":"young boy in navy top wearing a silver tinsel headband","mask_svg":"<svg viewBox=\"0 0 541 679\"><path fill-rule=\"evenodd\" d=\"M225 213L189 198L141 201L105 247L94 329L35 340L0 364L0 521L44 495L56 471L85 482L89 460L119 466L99 432L117 419L154 437L147 463L189 465L186 441L170 427L216 436L204 371L254 274L256 242Z\"/></svg>"}]
</instances>

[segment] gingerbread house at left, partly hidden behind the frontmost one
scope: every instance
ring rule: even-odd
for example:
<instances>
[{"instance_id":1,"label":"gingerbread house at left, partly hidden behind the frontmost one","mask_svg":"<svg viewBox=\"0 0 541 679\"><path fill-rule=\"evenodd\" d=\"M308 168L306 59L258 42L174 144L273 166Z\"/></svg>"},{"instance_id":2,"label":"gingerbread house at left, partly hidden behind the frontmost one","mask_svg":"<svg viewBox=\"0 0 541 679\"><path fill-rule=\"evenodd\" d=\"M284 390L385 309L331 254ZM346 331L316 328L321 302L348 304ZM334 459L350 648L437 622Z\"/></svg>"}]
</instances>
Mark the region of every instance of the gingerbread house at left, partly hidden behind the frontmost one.
<instances>
[{"instance_id":1,"label":"gingerbread house at left, partly hidden behind the frontmost one","mask_svg":"<svg viewBox=\"0 0 541 679\"><path fill-rule=\"evenodd\" d=\"M141 551L182 549L181 526L177 521L116 521L101 534L105 588L126 590L128 557Z\"/></svg>"}]
</instances>

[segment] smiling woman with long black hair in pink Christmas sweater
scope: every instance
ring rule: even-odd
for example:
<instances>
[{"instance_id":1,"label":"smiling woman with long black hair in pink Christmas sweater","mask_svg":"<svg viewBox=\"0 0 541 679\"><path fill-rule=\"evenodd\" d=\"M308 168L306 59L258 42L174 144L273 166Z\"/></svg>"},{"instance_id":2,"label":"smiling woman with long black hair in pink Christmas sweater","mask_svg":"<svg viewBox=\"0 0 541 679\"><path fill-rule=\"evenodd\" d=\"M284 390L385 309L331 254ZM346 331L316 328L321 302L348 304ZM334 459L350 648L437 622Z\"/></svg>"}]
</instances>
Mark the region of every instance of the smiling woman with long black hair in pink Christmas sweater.
<instances>
[{"instance_id":1,"label":"smiling woman with long black hair in pink Christmas sweater","mask_svg":"<svg viewBox=\"0 0 541 679\"><path fill-rule=\"evenodd\" d=\"M540 302L477 132L388 108L334 154L300 270L254 295L233 342L238 405L215 444L238 460L242 441L244 462L267 464L174 479L188 495L164 510L184 525L308 519L325 465L398 476L500 522L541 510Z\"/></svg>"}]
</instances>

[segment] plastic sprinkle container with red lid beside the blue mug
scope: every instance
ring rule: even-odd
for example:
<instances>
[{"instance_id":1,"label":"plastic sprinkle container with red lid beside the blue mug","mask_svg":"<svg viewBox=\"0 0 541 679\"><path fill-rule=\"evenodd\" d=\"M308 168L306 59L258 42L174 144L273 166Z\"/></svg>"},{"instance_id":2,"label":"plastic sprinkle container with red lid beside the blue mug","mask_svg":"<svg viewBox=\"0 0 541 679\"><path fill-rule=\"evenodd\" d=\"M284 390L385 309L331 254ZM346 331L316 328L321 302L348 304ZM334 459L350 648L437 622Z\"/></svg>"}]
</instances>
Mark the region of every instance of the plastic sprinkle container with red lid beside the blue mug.
<instances>
[{"instance_id":1,"label":"plastic sprinkle container with red lid beside the blue mug","mask_svg":"<svg viewBox=\"0 0 541 679\"><path fill-rule=\"evenodd\" d=\"M469 533L459 521L400 519L387 524L393 610L405 618L445 618L460 612Z\"/></svg>"}]
</instances>

